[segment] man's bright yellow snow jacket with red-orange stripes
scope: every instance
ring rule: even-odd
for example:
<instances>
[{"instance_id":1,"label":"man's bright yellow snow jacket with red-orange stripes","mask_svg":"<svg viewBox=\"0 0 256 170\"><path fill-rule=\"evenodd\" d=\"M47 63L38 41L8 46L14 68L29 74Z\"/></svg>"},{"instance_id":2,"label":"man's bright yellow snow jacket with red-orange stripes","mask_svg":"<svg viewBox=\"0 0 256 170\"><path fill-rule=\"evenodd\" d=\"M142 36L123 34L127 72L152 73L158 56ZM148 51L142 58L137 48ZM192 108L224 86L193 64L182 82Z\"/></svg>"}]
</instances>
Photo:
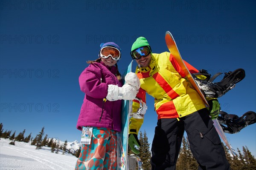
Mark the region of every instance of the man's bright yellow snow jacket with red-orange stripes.
<instances>
[{"instance_id":1,"label":"man's bright yellow snow jacket with red-orange stripes","mask_svg":"<svg viewBox=\"0 0 256 170\"><path fill-rule=\"evenodd\" d=\"M193 66L184 61L189 72L198 72ZM169 52L151 54L149 66L136 68L140 78L140 90L137 94L145 102L146 92L155 98L154 108L160 118L181 118L205 108L204 101L192 85L185 79L175 58ZM137 112L139 104L133 102L133 112ZM143 119L131 118L130 133L138 133ZM136 132L134 132L136 130Z\"/></svg>"}]
</instances>

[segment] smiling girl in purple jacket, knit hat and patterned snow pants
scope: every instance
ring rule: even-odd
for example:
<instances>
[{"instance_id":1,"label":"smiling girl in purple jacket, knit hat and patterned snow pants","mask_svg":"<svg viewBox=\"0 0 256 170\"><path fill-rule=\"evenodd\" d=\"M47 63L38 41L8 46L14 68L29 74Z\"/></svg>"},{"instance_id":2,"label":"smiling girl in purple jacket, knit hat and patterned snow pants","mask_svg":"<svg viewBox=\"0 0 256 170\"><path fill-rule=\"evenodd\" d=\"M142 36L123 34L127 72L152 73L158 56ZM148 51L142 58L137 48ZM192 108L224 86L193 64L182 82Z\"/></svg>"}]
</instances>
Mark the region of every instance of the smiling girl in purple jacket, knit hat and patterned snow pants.
<instances>
[{"instance_id":1,"label":"smiling girl in purple jacket, knit hat and patterned snow pants","mask_svg":"<svg viewBox=\"0 0 256 170\"><path fill-rule=\"evenodd\" d=\"M121 58L119 46L108 42L100 47L99 58L88 61L90 65L79 76L85 96L76 127L79 130L91 128L92 135L82 142L75 170L116 169L116 132L121 130L121 99L133 100L140 88L135 74L125 77L129 84L122 86L116 64Z\"/></svg>"}]
</instances>

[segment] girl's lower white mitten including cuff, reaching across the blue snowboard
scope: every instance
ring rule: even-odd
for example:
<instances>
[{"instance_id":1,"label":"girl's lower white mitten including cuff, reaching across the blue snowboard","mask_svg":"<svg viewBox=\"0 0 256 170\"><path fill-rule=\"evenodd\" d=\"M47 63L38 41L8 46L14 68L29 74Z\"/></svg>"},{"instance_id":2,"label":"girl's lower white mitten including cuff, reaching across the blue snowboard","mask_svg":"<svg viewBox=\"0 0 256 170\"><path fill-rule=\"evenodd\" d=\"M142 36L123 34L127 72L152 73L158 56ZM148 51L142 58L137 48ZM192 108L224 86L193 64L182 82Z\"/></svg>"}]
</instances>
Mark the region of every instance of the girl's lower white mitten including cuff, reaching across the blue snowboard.
<instances>
[{"instance_id":1,"label":"girl's lower white mitten including cuff, reaching across the blue snowboard","mask_svg":"<svg viewBox=\"0 0 256 170\"><path fill-rule=\"evenodd\" d=\"M137 95L137 89L134 86L125 84L122 87L109 84L108 85L108 101L117 101L117 100L134 100Z\"/></svg>"}]
</instances>

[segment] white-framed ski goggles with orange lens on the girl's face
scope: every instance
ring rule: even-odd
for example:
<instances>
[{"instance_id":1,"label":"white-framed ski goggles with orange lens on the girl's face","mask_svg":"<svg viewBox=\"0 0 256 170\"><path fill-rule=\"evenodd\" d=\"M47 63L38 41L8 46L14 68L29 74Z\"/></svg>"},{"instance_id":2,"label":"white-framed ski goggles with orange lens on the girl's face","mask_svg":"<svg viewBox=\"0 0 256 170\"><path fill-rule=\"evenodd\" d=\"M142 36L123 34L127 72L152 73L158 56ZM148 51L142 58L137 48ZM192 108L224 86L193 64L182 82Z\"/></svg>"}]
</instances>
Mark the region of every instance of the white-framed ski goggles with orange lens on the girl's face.
<instances>
[{"instance_id":1,"label":"white-framed ski goggles with orange lens on the girl's face","mask_svg":"<svg viewBox=\"0 0 256 170\"><path fill-rule=\"evenodd\" d=\"M121 53L119 49L112 46L105 46L99 51L99 57L109 58L109 56L111 56L113 60L118 61L121 58Z\"/></svg>"}]
</instances>

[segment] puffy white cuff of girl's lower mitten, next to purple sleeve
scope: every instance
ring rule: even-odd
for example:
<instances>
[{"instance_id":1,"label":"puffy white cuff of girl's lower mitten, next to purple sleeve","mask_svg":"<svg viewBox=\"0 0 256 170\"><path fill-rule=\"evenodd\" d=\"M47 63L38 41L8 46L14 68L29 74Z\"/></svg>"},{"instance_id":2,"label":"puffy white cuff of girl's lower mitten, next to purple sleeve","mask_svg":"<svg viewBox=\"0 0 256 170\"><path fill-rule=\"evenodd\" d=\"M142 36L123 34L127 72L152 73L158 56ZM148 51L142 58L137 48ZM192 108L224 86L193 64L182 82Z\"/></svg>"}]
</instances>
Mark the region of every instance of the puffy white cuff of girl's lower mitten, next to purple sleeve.
<instances>
[{"instance_id":1,"label":"puffy white cuff of girl's lower mitten, next to purple sleeve","mask_svg":"<svg viewBox=\"0 0 256 170\"><path fill-rule=\"evenodd\" d=\"M122 87L117 85L109 84L108 85L108 101L117 101L122 99Z\"/></svg>"}]
</instances>

